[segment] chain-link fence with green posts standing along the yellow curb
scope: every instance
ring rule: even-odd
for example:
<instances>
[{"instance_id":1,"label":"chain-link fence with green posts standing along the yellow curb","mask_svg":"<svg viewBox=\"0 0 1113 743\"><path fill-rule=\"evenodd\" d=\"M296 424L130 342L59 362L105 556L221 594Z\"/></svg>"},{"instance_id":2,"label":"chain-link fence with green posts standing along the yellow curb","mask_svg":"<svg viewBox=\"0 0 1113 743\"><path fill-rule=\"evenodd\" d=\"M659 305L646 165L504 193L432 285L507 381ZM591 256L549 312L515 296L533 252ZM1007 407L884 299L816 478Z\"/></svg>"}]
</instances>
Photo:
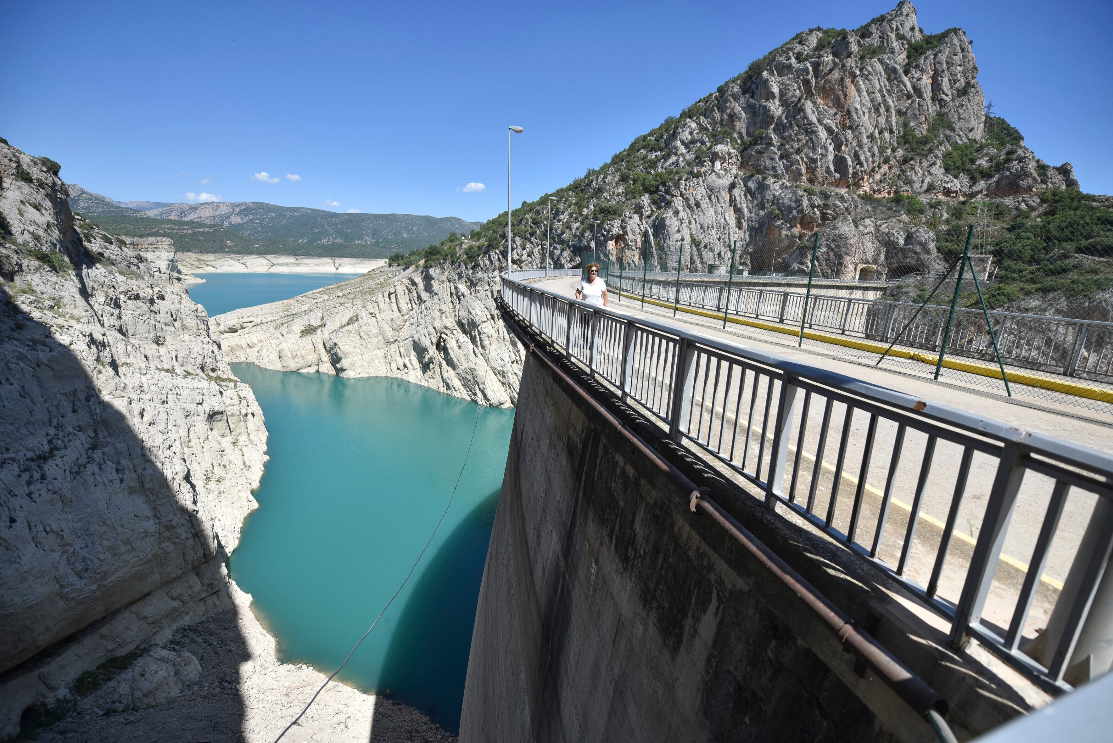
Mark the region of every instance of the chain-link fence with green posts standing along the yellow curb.
<instances>
[{"instance_id":1,"label":"chain-link fence with green posts standing along the yellow curb","mask_svg":"<svg viewBox=\"0 0 1113 743\"><path fill-rule=\"evenodd\" d=\"M623 274L622 288L781 343L802 330L827 353L1113 413L1113 199L907 204L888 221L755 236L733 274Z\"/></svg>"}]
</instances>

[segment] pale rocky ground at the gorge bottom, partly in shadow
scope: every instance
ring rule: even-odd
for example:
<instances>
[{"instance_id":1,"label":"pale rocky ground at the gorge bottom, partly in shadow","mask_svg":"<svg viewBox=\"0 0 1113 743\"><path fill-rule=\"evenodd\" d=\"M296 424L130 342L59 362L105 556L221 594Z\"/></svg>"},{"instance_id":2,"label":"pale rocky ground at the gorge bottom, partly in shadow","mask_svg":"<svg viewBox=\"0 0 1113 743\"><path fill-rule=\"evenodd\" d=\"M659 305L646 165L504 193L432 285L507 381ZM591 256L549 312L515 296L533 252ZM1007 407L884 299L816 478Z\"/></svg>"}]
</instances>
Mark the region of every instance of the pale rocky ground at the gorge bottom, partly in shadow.
<instances>
[{"instance_id":1,"label":"pale rocky ground at the gorge bottom, partly in shadow","mask_svg":"<svg viewBox=\"0 0 1113 743\"><path fill-rule=\"evenodd\" d=\"M278 663L274 637L252 614L250 596L234 583L229 592L235 608L178 630L162 646L200 663L199 678L180 693L156 706L117 713L98 709L104 692L93 693L27 737L41 743L272 743L325 676L305 665ZM413 707L338 683L329 684L283 737L288 743L455 740Z\"/></svg>"}]
</instances>

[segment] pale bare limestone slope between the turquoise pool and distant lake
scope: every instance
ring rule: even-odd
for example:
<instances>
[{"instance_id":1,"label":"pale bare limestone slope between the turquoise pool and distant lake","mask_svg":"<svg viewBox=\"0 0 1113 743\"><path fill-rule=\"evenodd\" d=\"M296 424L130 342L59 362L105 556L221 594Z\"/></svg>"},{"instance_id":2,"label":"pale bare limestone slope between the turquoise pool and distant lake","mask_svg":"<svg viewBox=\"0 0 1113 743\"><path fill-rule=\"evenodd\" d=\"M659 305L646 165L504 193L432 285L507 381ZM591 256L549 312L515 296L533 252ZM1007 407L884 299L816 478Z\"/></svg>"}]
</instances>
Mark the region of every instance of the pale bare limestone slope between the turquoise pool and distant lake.
<instances>
[{"instance_id":1,"label":"pale bare limestone slope between the turquoise pool and distant lake","mask_svg":"<svg viewBox=\"0 0 1113 743\"><path fill-rule=\"evenodd\" d=\"M382 268L211 319L230 361L342 377L395 377L482 405L518 399L523 348L490 274Z\"/></svg>"}]
</instances>

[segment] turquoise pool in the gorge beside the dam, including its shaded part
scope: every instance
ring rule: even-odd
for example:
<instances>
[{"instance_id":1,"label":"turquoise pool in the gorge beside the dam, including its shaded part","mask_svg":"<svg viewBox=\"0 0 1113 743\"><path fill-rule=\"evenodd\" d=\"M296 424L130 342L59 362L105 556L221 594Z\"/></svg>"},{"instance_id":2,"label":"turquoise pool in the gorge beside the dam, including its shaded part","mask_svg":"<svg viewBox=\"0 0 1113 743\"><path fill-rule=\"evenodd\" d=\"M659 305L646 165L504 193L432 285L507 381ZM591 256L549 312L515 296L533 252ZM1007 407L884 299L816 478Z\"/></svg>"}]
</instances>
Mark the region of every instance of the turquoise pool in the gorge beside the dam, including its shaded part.
<instances>
[{"instance_id":1,"label":"turquoise pool in the gorge beside the dam, including its shaded part","mask_svg":"<svg viewBox=\"0 0 1113 743\"><path fill-rule=\"evenodd\" d=\"M266 416L270 456L229 569L279 657L332 673L408 584L341 677L459 731L467 654L513 409L386 378L234 364Z\"/></svg>"}]
</instances>

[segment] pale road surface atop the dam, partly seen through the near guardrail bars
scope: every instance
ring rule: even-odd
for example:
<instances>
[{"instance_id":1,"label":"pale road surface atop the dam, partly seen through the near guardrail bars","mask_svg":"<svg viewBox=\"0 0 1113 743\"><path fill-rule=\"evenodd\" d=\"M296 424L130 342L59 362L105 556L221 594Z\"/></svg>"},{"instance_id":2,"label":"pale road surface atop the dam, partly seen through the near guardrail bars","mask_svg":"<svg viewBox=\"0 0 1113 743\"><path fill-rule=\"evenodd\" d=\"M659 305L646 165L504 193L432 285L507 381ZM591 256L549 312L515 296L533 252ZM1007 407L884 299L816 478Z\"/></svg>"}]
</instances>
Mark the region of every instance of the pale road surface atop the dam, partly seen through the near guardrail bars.
<instances>
[{"instance_id":1,"label":"pale road surface atop the dam, partly seen through the near guardrail bars","mask_svg":"<svg viewBox=\"0 0 1113 743\"><path fill-rule=\"evenodd\" d=\"M561 277L532 281L531 284L555 294L572 297L575 294L577 279ZM988 418L1005 422L1021 428L1056 436L1096 449L1113 452L1113 417L1110 418L1111 423L1105 423L1092 413L1083 412L1068 405L1056 405L1054 403L1041 403L1036 405L1023 399L1014 402L1006 397L987 393L975 386L966 387L953 382L936 383L925 379L920 375L903 374L896 369L878 368L871 364L859 363L843 355L827 354L814 347L797 348L779 339L762 337L761 331L742 326L732 325L723 330L721 320L716 321L711 318L684 313L679 313L673 318L671 309L654 307L648 304L644 308L640 308L638 300L630 298L617 301L617 297L612 297L609 308L634 317L676 324L686 329L776 354L797 363L820 366L825 369L876 385L898 389L909 395L930 399L963 410L976 412ZM749 392L746 394L748 395ZM758 405L764 405L764 390L759 390ZM723 416L729 417L731 415L729 409L732 406L733 403L728 403L727 405L720 404L717 413L711 415L712 419L719 420ZM800 407L798 403L794 430L799 430ZM814 405L809 415L810 425L808 434L805 438L801 472L798 478L798 492L801 494L808 493L812 474L815 474L817 479L815 496L816 512L825 514L831 481L834 479L835 467L831 462L835 459L835 449L837 448L838 436L841 429L843 414L841 412L836 412L831 417L833 424L828 446L824 456L820 457L820 463L817 467L815 457L811 454L817 448L816 439L818 437L819 416L821 416L821 405ZM864 439L867 422L868 416L866 415L859 414L854 417L850 424L851 442ZM729 425L733 426L732 419L729 420ZM742 422L742 425L745 425L745 422ZM873 497L866 498L864 503L864 514L860 522L864 526L860 527L857 535L857 541L863 544L869 544L873 538L876 514L880 502L880 492L885 485L895 430L895 425L883 423L877 433L877 443L874 449L871 466L866 477L867 493L871 494ZM755 436L760 436L762 432L755 432ZM795 434L792 443L795 444ZM900 503L896 503L897 507L890 511L889 523L886 527L879 555L890 564L896 564L899 541L905 534L908 519L908 508L902 508L900 504L908 504L913 501L913 492L915 491L925 444L926 437L919 434L909 434L904 444L903 464L898 469L894 494L895 498ZM857 452L854 450L856 446L859 449ZM844 531L849 521L853 488L857 484L856 476L859 473L861 460L860 448L860 446L851 444L844 469L847 475L844 475L846 479L843 482L841 495L838 501L835 518L835 525L841 527ZM790 455L794 454L795 447L790 452ZM908 571L910 577L922 585L927 583L930 575L935 553L943 533L943 524L947 518L947 512L953 497L961 457L962 449L955 445L940 443L936 448L930 469L929 486L925 495L923 517L917 526ZM740 458L741 456L736 458L736 464L740 462ZM756 454L751 453L748 457L750 466L752 466L755 460ZM955 538L952 541L947 566L939 587L939 595L951 601L956 601L962 590L965 566L973 552L973 543L981 526L995 468L996 462L994 459L983 455L974 456L966 495L956 522ZM790 472L791 467L789 468ZM998 625L1007 626L1016 594L1024 578L1026 564L1031 557L1036 535L1043 521L1051 488L1052 483L1042 476L1030 473L1025 478L1021 499L1005 543L1005 557L998 568L997 579L986 611L986 618ZM1046 613L1058 594L1057 590L1061 587L1061 582L1070 569L1078 541L1089 523L1093 503L1094 496L1084 493L1075 493L1067 499L1067 507L1053 542L1052 552L1045 568L1045 578L1041 584L1036 605L1028 622L1030 634L1035 627L1043 626L1046 620Z\"/></svg>"}]
</instances>

